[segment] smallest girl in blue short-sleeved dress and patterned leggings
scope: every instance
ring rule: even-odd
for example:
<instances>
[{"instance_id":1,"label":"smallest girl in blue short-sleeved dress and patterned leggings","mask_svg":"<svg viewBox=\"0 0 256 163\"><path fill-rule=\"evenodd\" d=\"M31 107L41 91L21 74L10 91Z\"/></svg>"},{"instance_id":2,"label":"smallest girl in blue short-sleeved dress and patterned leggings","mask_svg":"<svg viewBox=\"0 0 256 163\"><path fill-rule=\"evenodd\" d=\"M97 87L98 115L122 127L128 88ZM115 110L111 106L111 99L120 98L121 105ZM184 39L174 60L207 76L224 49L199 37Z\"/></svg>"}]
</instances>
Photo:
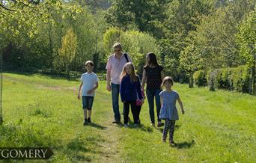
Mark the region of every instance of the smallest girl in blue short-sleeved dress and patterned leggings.
<instances>
[{"instance_id":1,"label":"smallest girl in blue short-sleeved dress and patterned leggings","mask_svg":"<svg viewBox=\"0 0 256 163\"><path fill-rule=\"evenodd\" d=\"M165 120L165 128L162 132L162 141L166 141L168 129L169 129L169 143L174 145L174 125L175 120L179 120L179 115L176 108L176 101L179 102L181 113L184 114L183 103L180 100L180 96L177 91L172 90L174 81L170 76L166 76L162 81L162 87L165 87L161 93L159 93L161 99L161 111L160 118Z\"/></svg>"}]
</instances>

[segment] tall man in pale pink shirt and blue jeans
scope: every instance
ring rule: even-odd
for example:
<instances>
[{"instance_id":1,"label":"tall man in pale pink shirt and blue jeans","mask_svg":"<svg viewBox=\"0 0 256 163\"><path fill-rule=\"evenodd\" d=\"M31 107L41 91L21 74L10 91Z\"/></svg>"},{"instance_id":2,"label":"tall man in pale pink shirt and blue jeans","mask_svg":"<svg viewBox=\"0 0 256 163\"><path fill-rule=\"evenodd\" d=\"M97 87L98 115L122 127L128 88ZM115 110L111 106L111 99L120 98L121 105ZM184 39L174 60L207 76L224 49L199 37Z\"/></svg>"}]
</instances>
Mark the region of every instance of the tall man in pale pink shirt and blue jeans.
<instances>
[{"instance_id":1,"label":"tall man in pale pink shirt and blue jeans","mask_svg":"<svg viewBox=\"0 0 256 163\"><path fill-rule=\"evenodd\" d=\"M120 123L121 115L119 111L119 91L120 91L120 76L124 68L124 64L132 62L128 55L122 52L121 43L115 43L113 46L114 54L109 56L106 64L106 88L112 91L112 107L114 111L115 120L113 123Z\"/></svg>"}]
</instances>

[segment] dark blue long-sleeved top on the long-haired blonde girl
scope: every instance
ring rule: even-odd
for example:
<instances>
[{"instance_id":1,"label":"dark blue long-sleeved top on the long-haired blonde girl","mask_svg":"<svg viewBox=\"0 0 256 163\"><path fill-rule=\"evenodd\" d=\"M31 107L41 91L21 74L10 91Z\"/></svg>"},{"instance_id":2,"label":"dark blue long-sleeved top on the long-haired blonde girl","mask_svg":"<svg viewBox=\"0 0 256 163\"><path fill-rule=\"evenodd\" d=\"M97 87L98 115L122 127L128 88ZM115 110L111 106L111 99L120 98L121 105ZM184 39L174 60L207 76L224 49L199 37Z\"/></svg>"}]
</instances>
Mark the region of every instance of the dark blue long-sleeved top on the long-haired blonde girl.
<instances>
[{"instance_id":1,"label":"dark blue long-sleeved top on the long-haired blonde girl","mask_svg":"<svg viewBox=\"0 0 256 163\"><path fill-rule=\"evenodd\" d=\"M122 102L136 100L137 93L138 93L138 98L142 99L141 83L139 82L139 79L137 82L131 82L129 75L124 76L120 86L120 94L121 94Z\"/></svg>"}]
</instances>

